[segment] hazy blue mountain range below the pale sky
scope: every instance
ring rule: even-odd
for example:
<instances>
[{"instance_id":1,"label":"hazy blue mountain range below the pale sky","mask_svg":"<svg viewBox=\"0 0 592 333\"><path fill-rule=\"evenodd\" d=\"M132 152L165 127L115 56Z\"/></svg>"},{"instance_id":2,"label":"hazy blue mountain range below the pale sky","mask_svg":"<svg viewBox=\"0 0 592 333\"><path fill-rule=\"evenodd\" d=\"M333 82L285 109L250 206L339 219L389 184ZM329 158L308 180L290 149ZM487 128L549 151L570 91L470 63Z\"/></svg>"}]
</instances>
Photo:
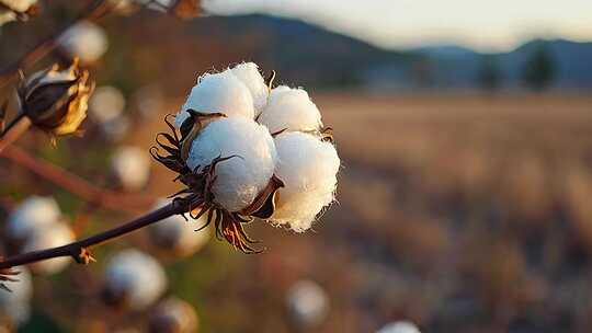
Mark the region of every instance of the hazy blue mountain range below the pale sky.
<instances>
[{"instance_id":1,"label":"hazy blue mountain range below the pale sky","mask_svg":"<svg viewBox=\"0 0 592 333\"><path fill-rule=\"evenodd\" d=\"M195 34L217 34L246 57L303 85L369 90L473 89L485 59L501 88L522 87L524 66L542 47L553 60L555 89L592 89L592 43L533 41L513 51L483 55L457 46L387 50L307 23L264 15L198 20ZM240 32L240 33L237 33ZM249 42L246 46L246 41Z\"/></svg>"}]
</instances>

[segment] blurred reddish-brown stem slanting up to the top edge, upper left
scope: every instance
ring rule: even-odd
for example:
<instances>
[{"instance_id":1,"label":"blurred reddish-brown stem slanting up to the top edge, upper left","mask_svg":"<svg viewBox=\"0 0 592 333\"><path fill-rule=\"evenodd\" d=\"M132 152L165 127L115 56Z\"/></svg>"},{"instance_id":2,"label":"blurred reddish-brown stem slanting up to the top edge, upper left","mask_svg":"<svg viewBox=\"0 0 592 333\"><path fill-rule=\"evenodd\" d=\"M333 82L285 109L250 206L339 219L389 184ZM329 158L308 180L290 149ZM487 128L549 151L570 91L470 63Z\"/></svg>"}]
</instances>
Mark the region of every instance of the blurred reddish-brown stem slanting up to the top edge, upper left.
<instances>
[{"instance_id":1,"label":"blurred reddish-brown stem slanting up to the top edge, upper left","mask_svg":"<svg viewBox=\"0 0 592 333\"><path fill-rule=\"evenodd\" d=\"M83 20L99 19L105 15L110 12L113 5L114 4L110 3L110 1L107 0L93 0L87 8L84 8L84 10L82 10L82 12L77 18L65 24L61 28L56 31L43 42L35 45L20 59L0 69L0 88L9 83L15 77L20 69L26 68L35 64L36 61L45 57L47 54L49 54L56 47L56 41L66 30Z\"/></svg>"}]
</instances>

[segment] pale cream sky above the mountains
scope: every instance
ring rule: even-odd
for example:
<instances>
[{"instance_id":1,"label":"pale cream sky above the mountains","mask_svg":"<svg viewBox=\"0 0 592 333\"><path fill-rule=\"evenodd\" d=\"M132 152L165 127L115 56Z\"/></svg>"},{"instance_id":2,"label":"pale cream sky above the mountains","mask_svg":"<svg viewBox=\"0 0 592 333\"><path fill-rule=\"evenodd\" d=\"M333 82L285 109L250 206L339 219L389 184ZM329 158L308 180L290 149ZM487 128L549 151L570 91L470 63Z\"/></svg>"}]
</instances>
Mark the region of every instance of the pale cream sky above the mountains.
<instances>
[{"instance_id":1,"label":"pale cream sky above the mountains","mask_svg":"<svg viewBox=\"0 0 592 333\"><path fill-rule=\"evenodd\" d=\"M216 14L296 18L386 48L508 51L536 37L592 41L592 0L203 0Z\"/></svg>"}]
</instances>

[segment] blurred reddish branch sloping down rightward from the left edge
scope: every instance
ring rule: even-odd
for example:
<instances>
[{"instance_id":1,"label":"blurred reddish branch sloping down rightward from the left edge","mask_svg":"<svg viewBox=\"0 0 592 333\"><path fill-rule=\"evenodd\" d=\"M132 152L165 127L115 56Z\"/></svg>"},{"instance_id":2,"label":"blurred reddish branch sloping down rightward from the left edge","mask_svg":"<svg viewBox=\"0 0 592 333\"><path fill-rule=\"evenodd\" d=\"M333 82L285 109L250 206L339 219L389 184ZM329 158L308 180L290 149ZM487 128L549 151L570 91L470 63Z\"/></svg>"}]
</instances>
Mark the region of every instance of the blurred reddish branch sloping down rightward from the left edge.
<instances>
[{"instance_id":1,"label":"blurred reddish branch sloping down rightward from the left edge","mask_svg":"<svg viewBox=\"0 0 592 333\"><path fill-rule=\"evenodd\" d=\"M88 203L119 211L146 211L153 206L156 199L146 195L126 194L96 187L80 176L68 172L53 163L36 159L24 150L11 146L0 152L11 162L21 165L38 176L62 187Z\"/></svg>"}]
</instances>

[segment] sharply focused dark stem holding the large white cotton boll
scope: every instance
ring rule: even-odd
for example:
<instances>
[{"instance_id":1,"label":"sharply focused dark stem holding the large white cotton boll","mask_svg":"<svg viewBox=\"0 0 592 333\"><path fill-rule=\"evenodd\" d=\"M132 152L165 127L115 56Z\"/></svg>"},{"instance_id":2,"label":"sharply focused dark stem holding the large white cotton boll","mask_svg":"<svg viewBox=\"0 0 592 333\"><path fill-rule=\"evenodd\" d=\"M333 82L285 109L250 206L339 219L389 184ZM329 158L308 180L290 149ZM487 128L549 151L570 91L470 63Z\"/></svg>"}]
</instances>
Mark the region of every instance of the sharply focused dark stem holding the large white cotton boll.
<instances>
[{"instance_id":1,"label":"sharply focused dark stem holding the large white cotton boll","mask_svg":"<svg viewBox=\"0 0 592 333\"><path fill-rule=\"evenodd\" d=\"M78 263L88 263L89 261L93 261L92 257L90 256L90 253L88 252L89 248L105 243L107 241L114 240L124 234L130 233L135 230L147 227L151 223L156 223L173 215L184 214L186 211L187 211L186 205L172 202L171 204L162 208L148 213L125 225L106 230L95 236L91 236L83 240L76 241L76 242L72 242L62 246L57 246L57 248L52 248L52 249L46 249L46 250L41 250L41 251L33 251L33 252L8 257L0 262L0 269L12 268L15 266L32 264L35 262L54 259L54 257L60 257L60 256L71 256Z\"/></svg>"}]
</instances>

